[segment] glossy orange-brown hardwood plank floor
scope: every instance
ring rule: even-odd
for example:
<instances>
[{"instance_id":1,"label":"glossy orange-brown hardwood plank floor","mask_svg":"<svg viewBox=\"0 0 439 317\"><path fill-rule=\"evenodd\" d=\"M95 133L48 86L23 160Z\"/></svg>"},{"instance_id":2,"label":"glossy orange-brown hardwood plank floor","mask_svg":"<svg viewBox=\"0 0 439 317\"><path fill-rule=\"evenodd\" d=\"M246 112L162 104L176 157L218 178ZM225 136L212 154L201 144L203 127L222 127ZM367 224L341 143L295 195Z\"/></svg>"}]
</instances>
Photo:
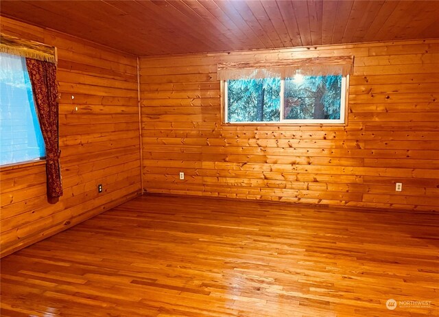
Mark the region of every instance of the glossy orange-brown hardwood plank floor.
<instances>
[{"instance_id":1,"label":"glossy orange-brown hardwood plank floor","mask_svg":"<svg viewBox=\"0 0 439 317\"><path fill-rule=\"evenodd\" d=\"M438 214L150 195L3 258L1 315L439 316L438 263Z\"/></svg>"}]
</instances>

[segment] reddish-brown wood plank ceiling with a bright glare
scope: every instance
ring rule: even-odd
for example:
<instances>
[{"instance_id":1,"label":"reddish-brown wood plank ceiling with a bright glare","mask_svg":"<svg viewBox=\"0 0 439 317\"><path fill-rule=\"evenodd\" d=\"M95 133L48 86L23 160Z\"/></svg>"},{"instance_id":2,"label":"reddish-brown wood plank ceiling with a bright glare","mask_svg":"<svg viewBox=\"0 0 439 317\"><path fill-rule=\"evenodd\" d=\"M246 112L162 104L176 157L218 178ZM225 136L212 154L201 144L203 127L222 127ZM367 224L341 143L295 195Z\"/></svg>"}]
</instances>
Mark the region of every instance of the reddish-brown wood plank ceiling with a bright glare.
<instances>
[{"instance_id":1,"label":"reddish-brown wood plank ceiling with a bright glare","mask_svg":"<svg viewBox=\"0 0 439 317\"><path fill-rule=\"evenodd\" d=\"M0 14L137 56L439 38L439 1L8 1Z\"/></svg>"}]
</instances>

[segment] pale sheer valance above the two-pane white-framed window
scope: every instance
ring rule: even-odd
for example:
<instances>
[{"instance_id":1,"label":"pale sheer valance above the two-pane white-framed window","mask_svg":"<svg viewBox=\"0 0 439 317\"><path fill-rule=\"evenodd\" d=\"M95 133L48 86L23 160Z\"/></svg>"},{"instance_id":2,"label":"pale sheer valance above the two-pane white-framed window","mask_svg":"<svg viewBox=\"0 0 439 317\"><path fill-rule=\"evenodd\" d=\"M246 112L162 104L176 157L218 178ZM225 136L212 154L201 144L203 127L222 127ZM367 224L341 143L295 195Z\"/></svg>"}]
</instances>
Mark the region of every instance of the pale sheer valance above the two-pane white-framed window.
<instances>
[{"instance_id":1,"label":"pale sheer valance above the two-pane white-framed window","mask_svg":"<svg viewBox=\"0 0 439 317\"><path fill-rule=\"evenodd\" d=\"M219 80L254 78L291 78L301 75L348 75L352 73L353 56L296 58L262 62L224 62L218 64Z\"/></svg>"}]
</instances>

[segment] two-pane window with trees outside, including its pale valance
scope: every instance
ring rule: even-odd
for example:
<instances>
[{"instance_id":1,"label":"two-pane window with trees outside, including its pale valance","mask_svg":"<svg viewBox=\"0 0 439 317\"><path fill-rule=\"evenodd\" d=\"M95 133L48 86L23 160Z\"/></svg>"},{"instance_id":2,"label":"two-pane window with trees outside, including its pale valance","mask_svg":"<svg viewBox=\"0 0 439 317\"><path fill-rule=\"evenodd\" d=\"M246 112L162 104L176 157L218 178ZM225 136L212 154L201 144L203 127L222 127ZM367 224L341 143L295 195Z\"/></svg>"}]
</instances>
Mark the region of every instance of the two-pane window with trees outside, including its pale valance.
<instances>
[{"instance_id":1,"label":"two-pane window with trees outside, including its pale valance","mask_svg":"<svg viewBox=\"0 0 439 317\"><path fill-rule=\"evenodd\" d=\"M352 60L351 56L293 60L263 68L260 63L254 65L258 68L251 63L218 65L224 83L224 121L344 124Z\"/></svg>"}]
</instances>

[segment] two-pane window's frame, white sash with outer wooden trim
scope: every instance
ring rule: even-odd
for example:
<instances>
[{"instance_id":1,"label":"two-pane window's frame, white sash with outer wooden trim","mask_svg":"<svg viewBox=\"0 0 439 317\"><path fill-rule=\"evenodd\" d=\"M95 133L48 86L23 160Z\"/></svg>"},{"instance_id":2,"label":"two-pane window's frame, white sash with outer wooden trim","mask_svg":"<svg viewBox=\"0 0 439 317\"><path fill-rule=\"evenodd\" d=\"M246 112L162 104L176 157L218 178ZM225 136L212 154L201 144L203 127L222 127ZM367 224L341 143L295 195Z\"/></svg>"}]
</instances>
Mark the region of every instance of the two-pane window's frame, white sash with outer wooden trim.
<instances>
[{"instance_id":1,"label":"two-pane window's frame, white sash with outer wooden trim","mask_svg":"<svg viewBox=\"0 0 439 317\"><path fill-rule=\"evenodd\" d=\"M341 75L341 74L340 74ZM228 84L227 80L220 82L221 95L221 124L222 126L347 126L349 106L350 75L342 75L342 91L340 99L340 119L283 119L285 104L285 78L281 78L281 104L279 121L239 121L230 122L228 118Z\"/></svg>"}]
</instances>

